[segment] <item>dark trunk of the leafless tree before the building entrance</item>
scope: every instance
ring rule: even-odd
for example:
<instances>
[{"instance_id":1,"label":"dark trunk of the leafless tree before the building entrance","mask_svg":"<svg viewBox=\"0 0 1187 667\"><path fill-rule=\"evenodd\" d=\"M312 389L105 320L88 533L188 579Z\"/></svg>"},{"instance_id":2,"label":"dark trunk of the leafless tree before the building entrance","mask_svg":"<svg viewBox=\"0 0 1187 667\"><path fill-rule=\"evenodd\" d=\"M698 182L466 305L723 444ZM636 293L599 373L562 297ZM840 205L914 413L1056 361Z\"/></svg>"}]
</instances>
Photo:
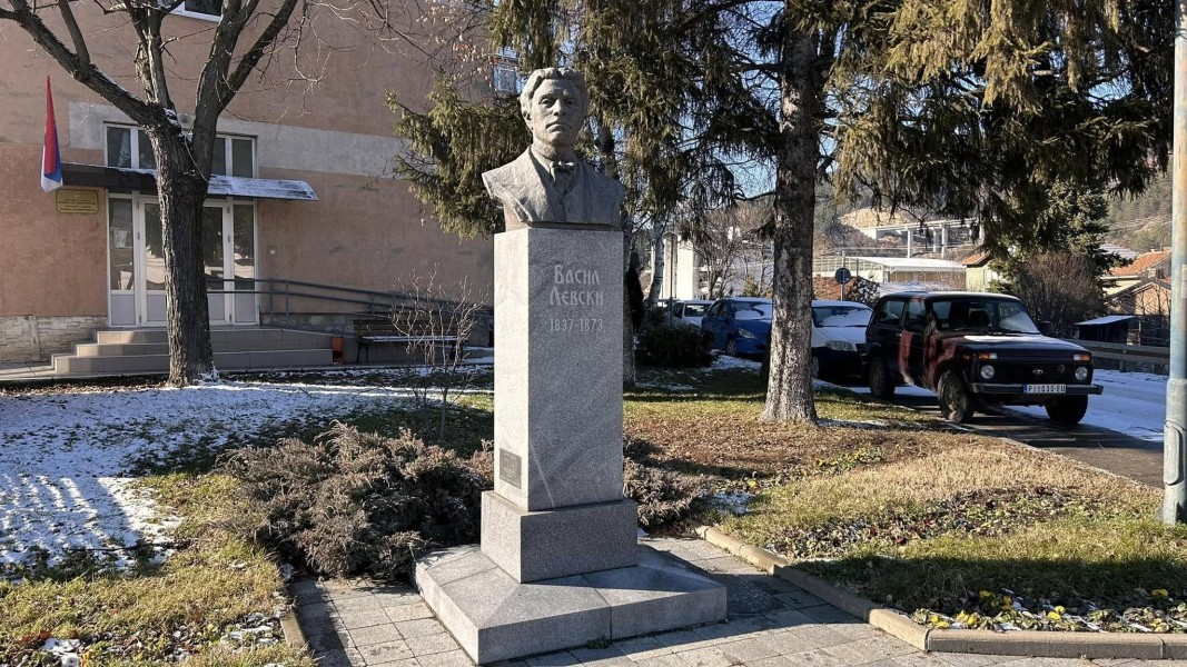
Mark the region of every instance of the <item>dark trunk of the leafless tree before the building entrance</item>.
<instances>
[{"instance_id":1,"label":"dark trunk of the leafless tree before the building entrance","mask_svg":"<svg viewBox=\"0 0 1187 667\"><path fill-rule=\"evenodd\" d=\"M189 141L173 125L146 127L157 158L165 313L169 323L169 383L174 387L217 374L210 348L210 305L202 254L202 204L207 182Z\"/></svg>"}]
</instances>

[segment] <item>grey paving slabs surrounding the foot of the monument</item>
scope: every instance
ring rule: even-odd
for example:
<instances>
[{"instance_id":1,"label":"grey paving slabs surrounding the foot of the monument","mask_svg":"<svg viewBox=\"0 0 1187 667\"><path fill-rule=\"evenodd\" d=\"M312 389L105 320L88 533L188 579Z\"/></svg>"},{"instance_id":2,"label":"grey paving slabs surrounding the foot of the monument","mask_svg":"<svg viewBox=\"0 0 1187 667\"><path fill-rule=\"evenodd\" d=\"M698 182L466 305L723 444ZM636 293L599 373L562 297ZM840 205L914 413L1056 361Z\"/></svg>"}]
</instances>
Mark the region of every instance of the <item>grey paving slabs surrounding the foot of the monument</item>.
<instances>
[{"instance_id":1,"label":"grey paving slabs surrounding the foot of the monument","mask_svg":"<svg viewBox=\"0 0 1187 667\"><path fill-rule=\"evenodd\" d=\"M709 542L647 539L726 587L725 623L590 646L507 667L1187 667L1172 660L1067 660L922 653L755 570ZM470 659L410 586L299 582L297 618L322 667L469 667Z\"/></svg>"}]
</instances>

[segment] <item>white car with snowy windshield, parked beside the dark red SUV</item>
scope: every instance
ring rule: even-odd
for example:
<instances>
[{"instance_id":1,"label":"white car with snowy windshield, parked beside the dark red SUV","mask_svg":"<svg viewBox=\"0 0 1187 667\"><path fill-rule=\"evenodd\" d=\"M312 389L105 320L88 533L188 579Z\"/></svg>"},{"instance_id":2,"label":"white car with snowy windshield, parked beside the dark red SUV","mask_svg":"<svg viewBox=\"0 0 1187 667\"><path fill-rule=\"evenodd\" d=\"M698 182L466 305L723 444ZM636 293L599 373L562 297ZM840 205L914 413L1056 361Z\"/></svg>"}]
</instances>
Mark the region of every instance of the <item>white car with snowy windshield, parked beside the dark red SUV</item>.
<instances>
[{"instance_id":1,"label":"white car with snowy windshield, parked beside the dark red SUV","mask_svg":"<svg viewBox=\"0 0 1187 667\"><path fill-rule=\"evenodd\" d=\"M812 301L812 376L862 374L865 325L874 311L857 301Z\"/></svg>"}]
</instances>

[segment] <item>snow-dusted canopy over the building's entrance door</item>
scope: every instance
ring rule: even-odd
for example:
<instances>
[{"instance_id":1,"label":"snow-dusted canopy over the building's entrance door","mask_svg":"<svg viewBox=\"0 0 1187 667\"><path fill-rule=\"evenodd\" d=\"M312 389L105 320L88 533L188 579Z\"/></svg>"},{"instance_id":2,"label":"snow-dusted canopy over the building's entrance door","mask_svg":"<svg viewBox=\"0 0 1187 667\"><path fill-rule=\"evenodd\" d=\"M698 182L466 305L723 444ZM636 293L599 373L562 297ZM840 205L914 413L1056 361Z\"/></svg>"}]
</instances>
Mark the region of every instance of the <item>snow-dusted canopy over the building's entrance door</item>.
<instances>
[{"instance_id":1,"label":"snow-dusted canopy over the building's entrance door","mask_svg":"<svg viewBox=\"0 0 1187 667\"><path fill-rule=\"evenodd\" d=\"M62 164L65 185L109 188L113 190L157 190L157 173L146 169L120 169L100 165ZM316 202L317 195L304 180L277 178L242 178L236 176L210 177L209 195L222 197L254 197L258 199L297 199Z\"/></svg>"}]
</instances>

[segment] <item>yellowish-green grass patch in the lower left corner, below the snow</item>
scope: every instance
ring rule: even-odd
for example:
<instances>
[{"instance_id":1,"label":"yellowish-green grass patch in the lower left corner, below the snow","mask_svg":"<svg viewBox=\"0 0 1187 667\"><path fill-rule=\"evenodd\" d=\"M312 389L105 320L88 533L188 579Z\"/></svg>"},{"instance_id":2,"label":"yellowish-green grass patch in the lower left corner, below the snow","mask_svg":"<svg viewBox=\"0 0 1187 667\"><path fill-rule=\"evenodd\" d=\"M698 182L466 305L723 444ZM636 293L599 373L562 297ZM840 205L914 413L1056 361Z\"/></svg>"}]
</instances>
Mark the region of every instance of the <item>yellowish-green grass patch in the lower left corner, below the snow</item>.
<instances>
[{"instance_id":1,"label":"yellowish-green grass patch in the lower left corner, below the snow","mask_svg":"<svg viewBox=\"0 0 1187 667\"><path fill-rule=\"evenodd\" d=\"M183 517L178 551L127 570L55 567L19 584L0 580L0 663L56 665L39 650L53 637L78 641L84 663L95 666L165 665L192 655L199 665L312 667L280 635L275 564L228 529L250 512L227 493L231 482L178 475L145 483ZM261 625L271 630L233 640ZM256 642L259 649L249 648Z\"/></svg>"}]
</instances>

